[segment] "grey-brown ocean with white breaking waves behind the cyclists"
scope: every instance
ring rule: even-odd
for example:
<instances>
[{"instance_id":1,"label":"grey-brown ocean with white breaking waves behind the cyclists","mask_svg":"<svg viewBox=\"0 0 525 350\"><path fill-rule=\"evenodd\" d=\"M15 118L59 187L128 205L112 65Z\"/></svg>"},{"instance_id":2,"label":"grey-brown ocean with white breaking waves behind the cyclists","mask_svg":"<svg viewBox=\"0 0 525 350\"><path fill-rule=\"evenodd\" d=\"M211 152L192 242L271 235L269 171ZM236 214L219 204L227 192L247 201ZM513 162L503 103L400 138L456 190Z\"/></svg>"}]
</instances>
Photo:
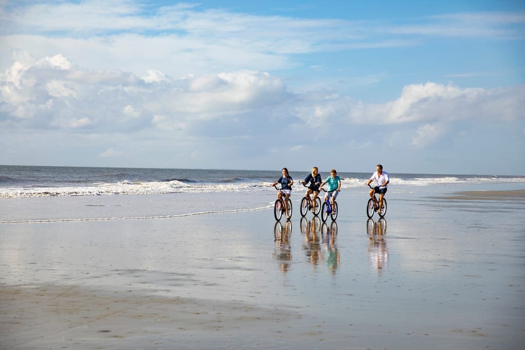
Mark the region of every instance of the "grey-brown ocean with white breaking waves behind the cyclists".
<instances>
[{"instance_id":1,"label":"grey-brown ocean with white breaking waves behind the cyclists","mask_svg":"<svg viewBox=\"0 0 525 350\"><path fill-rule=\"evenodd\" d=\"M385 169L387 171L387 169ZM309 171L292 171L295 190ZM362 187L370 173L339 172L342 188ZM525 184L523 176L390 174L389 188L465 184ZM146 195L167 193L270 192L280 176L272 171L0 165L0 198ZM321 172L322 178L329 170Z\"/></svg>"}]
</instances>

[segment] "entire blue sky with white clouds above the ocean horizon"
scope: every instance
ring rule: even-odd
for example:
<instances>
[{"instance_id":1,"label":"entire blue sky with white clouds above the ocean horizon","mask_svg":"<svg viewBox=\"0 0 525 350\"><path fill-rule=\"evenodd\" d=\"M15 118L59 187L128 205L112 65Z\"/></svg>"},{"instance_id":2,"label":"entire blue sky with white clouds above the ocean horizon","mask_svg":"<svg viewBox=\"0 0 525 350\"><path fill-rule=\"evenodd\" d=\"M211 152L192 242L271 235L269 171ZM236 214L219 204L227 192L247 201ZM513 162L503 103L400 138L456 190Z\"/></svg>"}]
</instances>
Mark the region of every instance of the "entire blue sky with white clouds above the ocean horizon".
<instances>
[{"instance_id":1,"label":"entire blue sky with white clouds above the ocean horizon","mask_svg":"<svg viewBox=\"0 0 525 350\"><path fill-rule=\"evenodd\" d=\"M0 164L525 175L524 54L522 1L0 0Z\"/></svg>"}]
</instances>

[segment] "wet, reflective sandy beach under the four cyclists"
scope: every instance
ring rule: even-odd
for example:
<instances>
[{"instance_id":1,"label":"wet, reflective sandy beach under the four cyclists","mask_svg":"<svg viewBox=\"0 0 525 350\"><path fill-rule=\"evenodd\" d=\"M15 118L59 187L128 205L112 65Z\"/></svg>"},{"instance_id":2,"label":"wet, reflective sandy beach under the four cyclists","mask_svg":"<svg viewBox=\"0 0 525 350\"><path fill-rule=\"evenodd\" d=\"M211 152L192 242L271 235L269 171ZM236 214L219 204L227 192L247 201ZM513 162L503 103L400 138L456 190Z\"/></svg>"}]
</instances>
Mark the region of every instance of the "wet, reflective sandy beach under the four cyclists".
<instances>
[{"instance_id":1,"label":"wet, reflective sandy beach under the four cyclists","mask_svg":"<svg viewBox=\"0 0 525 350\"><path fill-rule=\"evenodd\" d=\"M274 195L0 200L0 348L525 348L522 184Z\"/></svg>"}]
</instances>

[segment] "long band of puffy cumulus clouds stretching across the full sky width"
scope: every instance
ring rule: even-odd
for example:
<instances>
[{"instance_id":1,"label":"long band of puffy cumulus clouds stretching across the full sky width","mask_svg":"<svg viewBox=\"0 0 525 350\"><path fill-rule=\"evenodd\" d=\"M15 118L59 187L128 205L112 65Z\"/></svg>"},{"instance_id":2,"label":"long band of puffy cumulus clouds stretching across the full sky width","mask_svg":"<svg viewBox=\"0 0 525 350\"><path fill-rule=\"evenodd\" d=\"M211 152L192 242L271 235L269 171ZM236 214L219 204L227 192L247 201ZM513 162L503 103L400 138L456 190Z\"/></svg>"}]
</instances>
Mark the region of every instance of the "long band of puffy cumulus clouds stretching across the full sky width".
<instances>
[{"instance_id":1,"label":"long band of puffy cumulus clouds stretching across the full sky width","mask_svg":"<svg viewBox=\"0 0 525 350\"><path fill-rule=\"evenodd\" d=\"M367 142L356 126L403 126L395 142L427 147L455 123L525 119L525 87L459 88L426 82L405 86L400 97L365 103L332 90L294 93L267 72L239 70L174 78L159 70L144 77L115 70L91 70L64 55L20 61L0 75L0 124L4 128L70 130L82 134L155 133L171 137L249 140L276 130L330 135L344 144ZM335 126L335 129L334 129ZM354 133L354 134L353 134ZM149 135L149 136L148 136ZM356 141L359 140L359 141ZM389 142L394 142L390 139ZM299 146L298 146L299 145Z\"/></svg>"}]
</instances>

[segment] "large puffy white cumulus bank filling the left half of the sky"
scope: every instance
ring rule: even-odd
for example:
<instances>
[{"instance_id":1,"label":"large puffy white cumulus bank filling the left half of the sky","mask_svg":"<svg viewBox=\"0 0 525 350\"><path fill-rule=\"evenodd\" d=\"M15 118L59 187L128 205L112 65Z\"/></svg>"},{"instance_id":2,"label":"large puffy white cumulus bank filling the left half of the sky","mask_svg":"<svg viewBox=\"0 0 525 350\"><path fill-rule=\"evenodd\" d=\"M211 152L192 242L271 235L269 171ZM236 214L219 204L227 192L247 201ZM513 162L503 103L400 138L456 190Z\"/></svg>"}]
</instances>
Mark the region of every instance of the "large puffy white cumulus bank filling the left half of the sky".
<instances>
[{"instance_id":1,"label":"large puffy white cumulus bank filling the left half of the sky","mask_svg":"<svg viewBox=\"0 0 525 350\"><path fill-rule=\"evenodd\" d=\"M88 128L99 132L184 128L189 122L240 118L289 97L281 79L236 71L170 78L150 71L92 71L63 55L26 66L15 62L0 75L3 119L27 128ZM170 126L171 124L171 126Z\"/></svg>"}]
</instances>

